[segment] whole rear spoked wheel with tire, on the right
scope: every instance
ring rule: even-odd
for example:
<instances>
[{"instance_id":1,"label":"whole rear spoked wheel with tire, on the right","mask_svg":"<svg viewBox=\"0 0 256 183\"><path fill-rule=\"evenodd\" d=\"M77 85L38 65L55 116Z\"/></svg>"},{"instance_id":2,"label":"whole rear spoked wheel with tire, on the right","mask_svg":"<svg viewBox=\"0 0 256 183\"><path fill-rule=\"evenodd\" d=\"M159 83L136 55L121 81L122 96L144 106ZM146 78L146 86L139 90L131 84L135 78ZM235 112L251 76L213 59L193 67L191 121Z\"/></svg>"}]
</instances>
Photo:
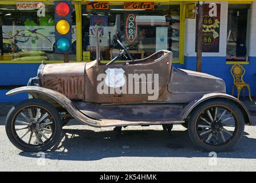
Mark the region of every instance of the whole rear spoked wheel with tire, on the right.
<instances>
[{"instance_id":1,"label":"whole rear spoked wheel with tire, on the right","mask_svg":"<svg viewBox=\"0 0 256 183\"><path fill-rule=\"evenodd\" d=\"M188 121L192 142L208 152L230 150L241 140L245 120L233 102L210 100L194 109Z\"/></svg>"}]
</instances>

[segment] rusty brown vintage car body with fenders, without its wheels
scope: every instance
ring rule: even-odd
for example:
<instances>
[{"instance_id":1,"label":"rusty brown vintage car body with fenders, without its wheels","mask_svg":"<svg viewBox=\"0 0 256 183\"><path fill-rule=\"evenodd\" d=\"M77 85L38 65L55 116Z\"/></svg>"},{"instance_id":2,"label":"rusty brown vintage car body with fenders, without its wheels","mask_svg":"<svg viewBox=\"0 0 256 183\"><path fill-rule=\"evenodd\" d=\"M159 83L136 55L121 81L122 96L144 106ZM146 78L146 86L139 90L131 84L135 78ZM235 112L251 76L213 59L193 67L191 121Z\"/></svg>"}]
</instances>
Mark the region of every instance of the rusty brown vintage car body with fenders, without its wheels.
<instances>
[{"instance_id":1,"label":"rusty brown vintage car body with fenders, without its wheels","mask_svg":"<svg viewBox=\"0 0 256 183\"><path fill-rule=\"evenodd\" d=\"M124 50L122 53L124 54ZM237 98L226 94L225 82L222 79L209 74L176 69L172 66L171 61L172 52L160 50L144 59L133 60L131 58L131 61L128 62L114 63L113 61L112 64L107 65L100 63L99 56L95 61L88 63L42 63L38 68L37 77L31 78L28 86L13 89L6 94L9 96L27 92L30 94L30 98L46 101L60 114L65 112L66 116L97 128L157 124L183 124L187 127L191 113L195 113L196 109L206 102L216 100L230 102L231 107L235 105L232 110L233 108L229 106L225 107L226 103L222 105L217 102L219 106L230 109L231 114L235 113L235 110L239 110L243 121L246 124L251 124L248 110ZM149 100L151 94L141 93L141 91L121 94L116 92L99 93L97 86L106 78L98 79L97 77L99 74L106 73L108 69L122 69L125 78L129 77L128 74L157 74L159 78L158 97L155 100ZM139 86L143 85L141 79L137 82L139 82ZM151 82L153 83L153 81ZM135 83L133 80L133 84L129 87L135 87ZM106 83L102 87L109 88ZM211 121L211 124L216 123L215 126L218 126L221 125L216 114L218 108L214 109L212 107L211 112L208 110L207 113L211 114L209 117L214 116L215 113L215 119L210 117L205 121ZM208 126L206 130L209 128ZM211 128L214 127L211 126ZM206 130L204 130L205 133L208 132ZM214 132L217 133L217 128L212 130L212 133ZM222 137L223 141L225 141L224 139L226 140L225 137ZM204 149L211 150L211 148Z\"/></svg>"}]
</instances>

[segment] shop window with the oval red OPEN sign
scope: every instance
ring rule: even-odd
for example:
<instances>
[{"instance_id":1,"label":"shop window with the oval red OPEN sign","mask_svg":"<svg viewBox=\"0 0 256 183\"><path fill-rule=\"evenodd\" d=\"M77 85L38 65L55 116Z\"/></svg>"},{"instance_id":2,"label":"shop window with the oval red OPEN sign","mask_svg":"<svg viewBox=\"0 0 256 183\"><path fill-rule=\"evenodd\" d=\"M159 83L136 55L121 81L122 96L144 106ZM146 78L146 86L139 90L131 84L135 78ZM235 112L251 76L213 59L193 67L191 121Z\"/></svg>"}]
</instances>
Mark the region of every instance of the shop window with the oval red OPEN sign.
<instances>
[{"instance_id":1,"label":"shop window with the oval red OPEN sign","mask_svg":"<svg viewBox=\"0 0 256 183\"><path fill-rule=\"evenodd\" d=\"M135 59L164 49L172 51L173 60L179 60L180 5L157 3L153 10L124 10L123 4L109 5L107 10L92 10L82 5L84 61L96 59L95 25L100 29L101 61L109 61L119 54L121 47L117 39L126 46L138 43L130 50Z\"/></svg>"}]
</instances>

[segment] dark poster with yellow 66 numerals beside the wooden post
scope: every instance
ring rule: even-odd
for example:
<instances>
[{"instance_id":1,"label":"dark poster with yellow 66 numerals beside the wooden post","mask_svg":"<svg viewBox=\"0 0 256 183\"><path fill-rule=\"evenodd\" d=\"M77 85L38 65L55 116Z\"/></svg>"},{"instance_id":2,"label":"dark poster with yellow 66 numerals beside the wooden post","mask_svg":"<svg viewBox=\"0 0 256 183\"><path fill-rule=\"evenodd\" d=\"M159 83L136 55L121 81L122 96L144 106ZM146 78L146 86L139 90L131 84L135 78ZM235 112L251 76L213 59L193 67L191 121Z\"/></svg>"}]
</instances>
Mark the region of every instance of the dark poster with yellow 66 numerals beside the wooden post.
<instances>
[{"instance_id":1,"label":"dark poster with yellow 66 numerals beside the wooden post","mask_svg":"<svg viewBox=\"0 0 256 183\"><path fill-rule=\"evenodd\" d=\"M196 17L196 25L198 17ZM204 4L202 52L219 52L220 4ZM196 27L197 28L197 27ZM196 41L197 41L196 29ZM197 42L196 42L197 44Z\"/></svg>"}]
</instances>

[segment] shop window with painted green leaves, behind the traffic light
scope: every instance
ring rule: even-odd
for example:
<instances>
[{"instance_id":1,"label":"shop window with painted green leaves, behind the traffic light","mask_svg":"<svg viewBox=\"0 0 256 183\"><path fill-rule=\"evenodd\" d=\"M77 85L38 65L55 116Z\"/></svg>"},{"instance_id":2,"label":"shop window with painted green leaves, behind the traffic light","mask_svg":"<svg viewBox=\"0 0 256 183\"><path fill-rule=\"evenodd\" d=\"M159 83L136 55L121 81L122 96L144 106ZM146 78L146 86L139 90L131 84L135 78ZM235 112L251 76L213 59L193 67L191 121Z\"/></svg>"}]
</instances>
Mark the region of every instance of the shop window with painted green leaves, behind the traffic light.
<instances>
[{"instance_id":1,"label":"shop window with painted green leaves, behind the traffic light","mask_svg":"<svg viewBox=\"0 0 256 183\"><path fill-rule=\"evenodd\" d=\"M17 5L0 8L0 61L63 61L55 48L54 5L45 5L45 16L38 9L18 9ZM2 36L1 36L2 35ZM72 53L76 60L76 14L72 12Z\"/></svg>"}]
</instances>

